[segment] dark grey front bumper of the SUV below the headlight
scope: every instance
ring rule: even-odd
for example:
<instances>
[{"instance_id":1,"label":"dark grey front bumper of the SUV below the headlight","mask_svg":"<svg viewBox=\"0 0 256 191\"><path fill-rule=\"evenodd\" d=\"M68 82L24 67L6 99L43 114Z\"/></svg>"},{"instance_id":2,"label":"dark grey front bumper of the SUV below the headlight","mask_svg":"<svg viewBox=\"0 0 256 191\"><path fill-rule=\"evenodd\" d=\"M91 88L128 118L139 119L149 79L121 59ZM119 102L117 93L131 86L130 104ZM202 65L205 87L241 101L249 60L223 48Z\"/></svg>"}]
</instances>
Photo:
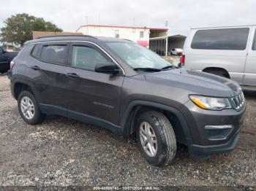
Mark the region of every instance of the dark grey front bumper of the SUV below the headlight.
<instances>
[{"instance_id":1,"label":"dark grey front bumper of the SUV below the headlight","mask_svg":"<svg viewBox=\"0 0 256 191\"><path fill-rule=\"evenodd\" d=\"M216 153L230 152L236 147L244 122L246 105L239 112L235 109L222 111L200 109L191 101L186 106L189 109L187 122L192 137L191 143L188 144L191 157L208 157ZM208 125L233 125L233 128L226 136L211 139L206 130Z\"/></svg>"}]
</instances>

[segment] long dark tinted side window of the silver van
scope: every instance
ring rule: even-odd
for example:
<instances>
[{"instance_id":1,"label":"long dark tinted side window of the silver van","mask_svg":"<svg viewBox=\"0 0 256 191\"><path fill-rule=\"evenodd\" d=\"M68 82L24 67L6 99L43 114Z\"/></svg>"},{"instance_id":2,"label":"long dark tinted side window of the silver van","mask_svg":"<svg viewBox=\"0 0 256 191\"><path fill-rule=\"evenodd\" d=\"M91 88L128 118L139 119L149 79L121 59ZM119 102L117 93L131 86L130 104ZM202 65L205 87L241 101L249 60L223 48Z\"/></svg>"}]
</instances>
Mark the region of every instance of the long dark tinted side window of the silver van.
<instances>
[{"instance_id":1,"label":"long dark tinted side window of the silver van","mask_svg":"<svg viewBox=\"0 0 256 191\"><path fill-rule=\"evenodd\" d=\"M249 28L200 30L195 33L191 47L207 50L245 50Z\"/></svg>"}]
</instances>

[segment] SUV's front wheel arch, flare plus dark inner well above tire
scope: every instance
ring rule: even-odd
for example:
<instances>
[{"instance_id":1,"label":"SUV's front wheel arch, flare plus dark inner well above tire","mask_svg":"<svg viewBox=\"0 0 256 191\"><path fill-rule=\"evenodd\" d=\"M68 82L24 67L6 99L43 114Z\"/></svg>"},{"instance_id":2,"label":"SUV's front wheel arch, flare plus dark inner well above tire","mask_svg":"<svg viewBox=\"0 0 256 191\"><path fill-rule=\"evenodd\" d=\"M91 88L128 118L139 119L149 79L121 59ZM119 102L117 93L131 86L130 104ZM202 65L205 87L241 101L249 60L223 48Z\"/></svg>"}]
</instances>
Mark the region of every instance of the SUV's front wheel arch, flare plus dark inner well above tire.
<instances>
[{"instance_id":1,"label":"SUV's front wheel arch, flare plus dark inner well above tire","mask_svg":"<svg viewBox=\"0 0 256 191\"><path fill-rule=\"evenodd\" d=\"M178 142L187 145L192 143L187 120L182 112L173 106L166 106L150 101L132 101L132 103L127 106L121 118L121 134L123 136L129 136L135 133L135 122L138 114L152 110L162 112L168 120L170 120Z\"/></svg>"}]
</instances>

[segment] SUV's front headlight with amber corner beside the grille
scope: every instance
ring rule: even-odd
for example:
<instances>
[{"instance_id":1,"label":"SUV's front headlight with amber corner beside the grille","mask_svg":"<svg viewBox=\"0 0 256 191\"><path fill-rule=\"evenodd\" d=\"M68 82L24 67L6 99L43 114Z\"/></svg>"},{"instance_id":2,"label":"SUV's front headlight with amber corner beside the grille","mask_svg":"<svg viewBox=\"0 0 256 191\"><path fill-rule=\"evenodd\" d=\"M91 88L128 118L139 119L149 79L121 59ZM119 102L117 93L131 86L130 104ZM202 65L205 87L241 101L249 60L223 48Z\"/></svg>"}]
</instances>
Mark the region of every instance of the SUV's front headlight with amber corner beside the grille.
<instances>
[{"instance_id":1,"label":"SUV's front headlight with amber corner beside the grille","mask_svg":"<svg viewBox=\"0 0 256 191\"><path fill-rule=\"evenodd\" d=\"M189 98L202 109L222 110L231 108L228 98L213 98L203 95L189 95Z\"/></svg>"}]
</instances>

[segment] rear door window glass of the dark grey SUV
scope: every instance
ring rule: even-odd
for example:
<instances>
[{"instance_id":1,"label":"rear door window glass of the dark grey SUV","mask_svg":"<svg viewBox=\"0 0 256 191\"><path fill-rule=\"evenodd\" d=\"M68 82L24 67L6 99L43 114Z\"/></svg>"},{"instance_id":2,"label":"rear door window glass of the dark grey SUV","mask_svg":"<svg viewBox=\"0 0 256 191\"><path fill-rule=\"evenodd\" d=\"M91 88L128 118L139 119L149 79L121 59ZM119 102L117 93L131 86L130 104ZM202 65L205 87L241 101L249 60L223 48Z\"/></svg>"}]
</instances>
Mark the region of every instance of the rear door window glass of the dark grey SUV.
<instances>
[{"instance_id":1,"label":"rear door window glass of the dark grey SUV","mask_svg":"<svg viewBox=\"0 0 256 191\"><path fill-rule=\"evenodd\" d=\"M67 55L67 45L45 45L42 47L40 60L47 63L64 64Z\"/></svg>"}]
</instances>

